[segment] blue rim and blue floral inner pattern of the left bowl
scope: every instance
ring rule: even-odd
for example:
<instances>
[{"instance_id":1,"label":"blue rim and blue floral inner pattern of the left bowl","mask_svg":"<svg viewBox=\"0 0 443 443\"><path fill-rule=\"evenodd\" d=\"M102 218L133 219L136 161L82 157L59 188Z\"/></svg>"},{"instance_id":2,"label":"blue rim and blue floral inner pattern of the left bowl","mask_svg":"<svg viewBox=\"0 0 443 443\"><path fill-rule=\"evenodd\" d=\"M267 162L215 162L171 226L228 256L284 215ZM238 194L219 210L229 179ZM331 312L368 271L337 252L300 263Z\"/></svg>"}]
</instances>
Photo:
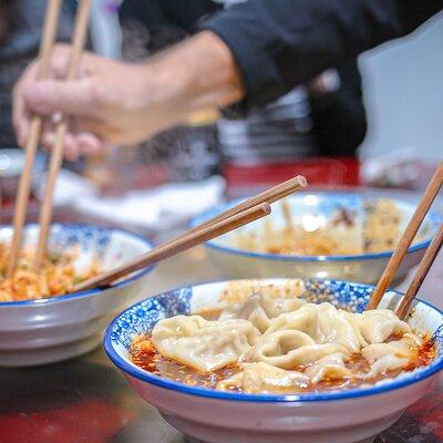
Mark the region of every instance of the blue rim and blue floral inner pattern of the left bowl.
<instances>
[{"instance_id":1,"label":"blue rim and blue floral inner pattern of the left bowl","mask_svg":"<svg viewBox=\"0 0 443 443\"><path fill-rule=\"evenodd\" d=\"M27 227L33 227L38 226L37 224L27 224ZM0 226L0 229L2 228L10 228L11 226L2 225ZM91 240L93 237L93 234L95 235L94 240L96 241L96 248L99 251L103 251L103 249L107 246L109 240L111 238L112 233L121 233L125 236L136 238L141 241L143 241L148 248L153 248L153 244L147 240L145 237L130 233L127 230L119 229L119 228L111 228L111 227L105 227L105 226L100 226L100 225L93 225L93 224L75 224L75 223L56 223L51 225L52 229L60 229L56 235L55 235L55 244L58 246L62 245L69 245L69 244L82 244L82 241L87 241ZM138 278L143 277L145 274L150 272L154 266L150 266L147 268L141 269L136 272L134 272L132 276L123 279L122 281L119 281L114 285L111 285L110 288L121 288L124 287L132 281L137 280ZM69 300L72 298L78 298L78 297L86 297L95 293L101 293L105 291L105 289L89 289L85 291L81 292L72 292L72 293L66 293L64 296L55 296L55 297L48 297L48 298L41 298L41 299L35 299L35 300L20 300L20 301L0 301L0 308L1 307L17 307L17 306L30 306L30 305L47 305L47 303L52 303L52 302L58 302L62 300Z\"/></svg>"}]
</instances>

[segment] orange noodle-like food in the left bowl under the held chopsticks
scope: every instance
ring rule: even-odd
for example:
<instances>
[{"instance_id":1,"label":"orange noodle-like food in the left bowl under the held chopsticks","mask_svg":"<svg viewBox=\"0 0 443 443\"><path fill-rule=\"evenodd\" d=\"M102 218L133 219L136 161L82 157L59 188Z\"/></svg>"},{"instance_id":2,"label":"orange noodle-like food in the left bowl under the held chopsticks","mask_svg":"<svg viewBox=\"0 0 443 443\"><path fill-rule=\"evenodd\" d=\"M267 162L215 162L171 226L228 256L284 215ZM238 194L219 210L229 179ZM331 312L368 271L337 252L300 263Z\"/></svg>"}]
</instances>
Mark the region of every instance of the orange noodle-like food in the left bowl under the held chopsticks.
<instances>
[{"instance_id":1,"label":"orange noodle-like food in the left bowl under the held chopsticks","mask_svg":"<svg viewBox=\"0 0 443 443\"><path fill-rule=\"evenodd\" d=\"M74 286L97 275L100 266L92 260L84 270L78 269L75 260L80 250L52 250L48 254L41 271L32 270L33 251L22 249L14 276L6 278L9 258L9 246L0 244L0 302L33 300L62 296L73 290Z\"/></svg>"}]
</instances>

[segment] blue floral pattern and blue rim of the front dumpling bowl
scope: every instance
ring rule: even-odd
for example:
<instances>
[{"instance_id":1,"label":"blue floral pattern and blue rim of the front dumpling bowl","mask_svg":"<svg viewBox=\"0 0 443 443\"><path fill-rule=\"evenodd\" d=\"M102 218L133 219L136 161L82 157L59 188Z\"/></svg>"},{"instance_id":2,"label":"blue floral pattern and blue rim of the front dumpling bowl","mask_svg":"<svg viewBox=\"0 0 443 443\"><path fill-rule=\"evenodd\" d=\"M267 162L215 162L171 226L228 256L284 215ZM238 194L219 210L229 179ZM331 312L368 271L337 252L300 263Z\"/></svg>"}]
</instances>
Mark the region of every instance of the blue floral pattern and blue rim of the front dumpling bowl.
<instances>
[{"instance_id":1,"label":"blue floral pattern and blue rim of the front dumpling bowl","mask_svg":"<svg viewBox=\"0 0 443 443\"><path fill-rule=\"evenodd\" d=\"M310 301L316 301L315 297L324 295L327 299L336 299L338 306L347 305L354 311L362 311L367 305L373 286L352 284L337 280L305 280L307 292L310 292ZM203 284L197 286L206 286L213 284ZM390 291L392 293L400 293ZM409 384L422 381L443 369L443 311L432 305L416 299L439 313L442 319L442 324L433 334L433 340L437 347L437 357L429 367L421 368L414 372L404 374L399 380L387 380L381 384L365 389L352 389L341 392L329 393L307 393L307 394L241 394L234 392L216 391L206 388L194 388L167 379L162 379L137 368L135 364L122 358L115 350L115 346L122 344L128 349L132 339L135 336L146 333L155 323L166 317L172 317L178 313L190 313L190 300L193 297L193 287L184 287L163 293L157 297L148 298L133 307L126 309L117 316L107 327L103 344L107 357L111 361L126 374L134 377L144 382L171 389L184 394L229 400L229 401L253 401L253 402L315 402L315 401L331 401L354 399L365 395L373 395L391 390L408 387Z\"/></svg>"}]
</instances>

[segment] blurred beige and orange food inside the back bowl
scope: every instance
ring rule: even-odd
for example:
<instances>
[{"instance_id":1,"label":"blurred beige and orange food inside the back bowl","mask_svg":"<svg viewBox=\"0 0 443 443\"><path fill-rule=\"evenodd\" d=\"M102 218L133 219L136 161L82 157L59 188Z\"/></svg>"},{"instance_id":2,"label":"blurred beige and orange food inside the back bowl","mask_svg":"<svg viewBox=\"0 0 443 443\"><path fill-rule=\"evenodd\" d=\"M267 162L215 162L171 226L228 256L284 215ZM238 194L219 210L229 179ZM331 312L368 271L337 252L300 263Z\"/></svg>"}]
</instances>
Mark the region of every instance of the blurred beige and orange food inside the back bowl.
<instances>
[{"instance_id":1,"label":"blurred beige and orange food inside the back bowl","mask_svg":"<svg viewBox=\"0 0 443 443\"><path fill-rule=\"evenodd\" d=\"M296 256L344 256L392 250L401 234L401 210L389 199L368 200L364 219L346 207L328 219L315 214L297 217L281 203L284 225L264 220L256 230L240 229L234 246L254 253Z\"/></svg>"}]
</instances>

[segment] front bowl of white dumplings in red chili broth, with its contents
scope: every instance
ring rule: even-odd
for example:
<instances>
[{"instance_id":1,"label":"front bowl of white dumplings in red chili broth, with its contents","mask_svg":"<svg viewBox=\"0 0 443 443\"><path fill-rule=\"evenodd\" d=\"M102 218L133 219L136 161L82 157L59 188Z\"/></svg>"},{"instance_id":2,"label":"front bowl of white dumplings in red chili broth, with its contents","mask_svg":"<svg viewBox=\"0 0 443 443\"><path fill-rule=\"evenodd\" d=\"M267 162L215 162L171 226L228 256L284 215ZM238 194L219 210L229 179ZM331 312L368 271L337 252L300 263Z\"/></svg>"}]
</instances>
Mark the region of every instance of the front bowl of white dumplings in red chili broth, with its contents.
<instances>
[{"instance_id":1,"label":"front bowl of white dumplings in red chili broth, with its contents","mask_svg":"<svg viewBox=\"0 0 443 443\"><path fill-rule=\"evenodd\" d=\"M373 287L230 280L141 301L104 348L134 390L190 442L372 442L443 369L443 312Z\"/></svg>"}]
</instances>

